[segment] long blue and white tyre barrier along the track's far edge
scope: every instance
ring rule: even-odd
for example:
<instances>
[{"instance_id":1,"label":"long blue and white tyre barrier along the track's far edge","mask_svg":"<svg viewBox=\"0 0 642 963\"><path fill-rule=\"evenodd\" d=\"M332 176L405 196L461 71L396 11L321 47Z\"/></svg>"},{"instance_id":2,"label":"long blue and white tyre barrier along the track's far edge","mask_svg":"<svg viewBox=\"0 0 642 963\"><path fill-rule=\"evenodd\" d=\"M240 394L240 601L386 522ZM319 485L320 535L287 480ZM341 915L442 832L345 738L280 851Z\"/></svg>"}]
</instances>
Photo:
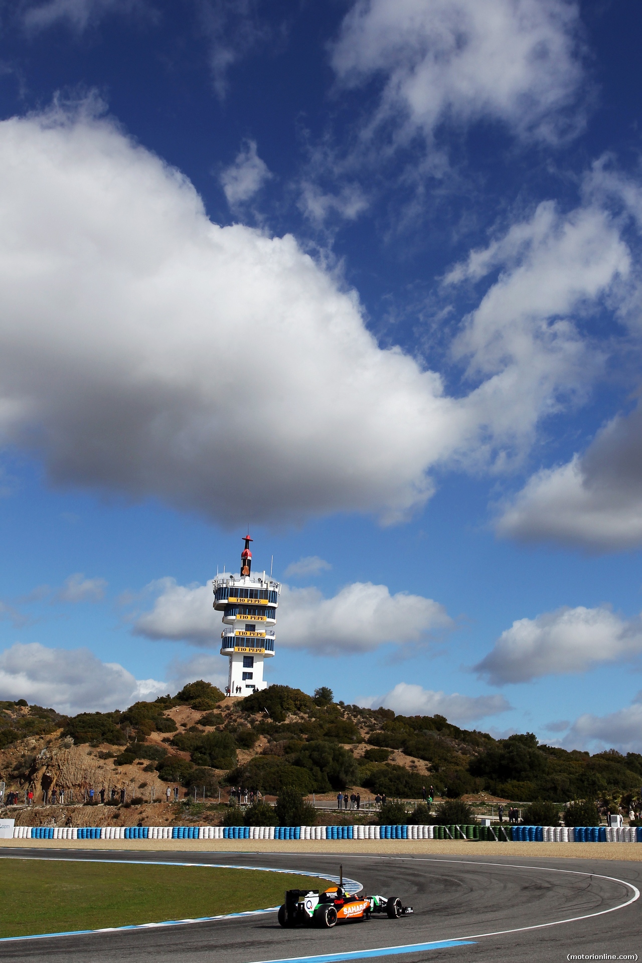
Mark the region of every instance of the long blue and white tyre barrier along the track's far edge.
<instances>
[{"instance_id":1,"label":"long blue and white tyre barrier along the track's far edge","mask_svg":"<svg viewBox=\"0 0 642 963\"><path fill-rule=\"evenodd\" d=\"M470 840L489 843L642 843L642 826L15 826L41 840Z\"/></svg>"}]
</instances>

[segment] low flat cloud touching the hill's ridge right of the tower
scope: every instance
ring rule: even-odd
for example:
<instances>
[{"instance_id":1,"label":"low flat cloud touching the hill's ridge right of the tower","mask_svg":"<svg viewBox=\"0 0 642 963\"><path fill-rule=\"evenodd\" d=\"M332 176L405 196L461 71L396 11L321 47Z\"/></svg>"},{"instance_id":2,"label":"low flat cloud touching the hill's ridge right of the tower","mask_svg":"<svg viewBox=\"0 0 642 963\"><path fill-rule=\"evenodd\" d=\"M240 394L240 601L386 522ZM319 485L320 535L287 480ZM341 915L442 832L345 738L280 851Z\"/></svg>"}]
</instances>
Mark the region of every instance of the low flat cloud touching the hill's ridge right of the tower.
<instances>
[{"instance_id":1,"label":"low flat cloud touching the hill's ridge right of the tower","mask_svg":"<svg viewBox=\"0 0 642 963\"><path fill-rule=\"evenodd\" d=\"M399 682L382 697L371 696L357 700L367 708L383 706L398 716L446 716L450 722L462 725L485 716L497 716L512 707L502 695L460 695L459 692L435 692L421 686Z\"/></svg>"}]
</instances>

